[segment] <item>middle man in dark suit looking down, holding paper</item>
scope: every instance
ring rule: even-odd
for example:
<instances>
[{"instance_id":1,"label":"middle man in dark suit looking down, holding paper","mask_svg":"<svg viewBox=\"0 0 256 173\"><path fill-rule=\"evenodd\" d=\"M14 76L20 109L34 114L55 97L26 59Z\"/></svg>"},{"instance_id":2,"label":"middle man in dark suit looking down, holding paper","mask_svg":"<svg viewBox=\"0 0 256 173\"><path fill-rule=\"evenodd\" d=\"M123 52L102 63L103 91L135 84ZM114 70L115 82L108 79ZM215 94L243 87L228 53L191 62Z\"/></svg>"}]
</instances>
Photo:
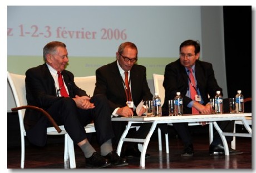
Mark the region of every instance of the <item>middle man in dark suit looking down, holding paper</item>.
<instances>
[{"instance_id":1,"label":"middle man in dark suit looking down, holding paper","mask_svg":"<svg viewBox=\"0 0 256 173\"><path fill-rule=\"evenodd\" d=\"M135 108L141 100L152 100L152 94L146 79L146 68L137 65L137 47L134 43L122 43L116 52L116 61L102 66L96 70L96 87L94 94L104 94L109 100L110 111L112 117L116 116L136 116ZM127 80L129 86L125 85L125 72L128 72ZM131 99L129 100L129 92ZM146 108L142 107L139 115L146 112ZM122 133L125 130L126 122L112 121L115 132L115 146ZM142 123L133 138L145 138L151 123ZM131 135L131 130L129 135ZM126 156L140 157L140 152L134 143L129 144L129 147L124 150ZM149 155L147 155L148 157Z\"/></svg>"}]
</instances>

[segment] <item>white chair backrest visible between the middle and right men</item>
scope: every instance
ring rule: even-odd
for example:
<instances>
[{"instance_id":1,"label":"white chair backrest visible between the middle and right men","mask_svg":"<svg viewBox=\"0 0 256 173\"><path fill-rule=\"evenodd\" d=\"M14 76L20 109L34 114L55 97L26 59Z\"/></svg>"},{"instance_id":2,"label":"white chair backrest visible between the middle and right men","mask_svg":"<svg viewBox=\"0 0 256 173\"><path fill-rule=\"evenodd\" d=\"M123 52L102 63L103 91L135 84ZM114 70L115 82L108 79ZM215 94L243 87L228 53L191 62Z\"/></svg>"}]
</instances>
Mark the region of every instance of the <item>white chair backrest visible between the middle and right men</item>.
<instances>
[{"instance_id":1,"label":"white chair backrest visible between the middle and right men","mask_svg":"<svg viewBox=\"0 0 256 173\"><path fill-rule=\"evenodd\" d=\"M164 98L165 98L165 89L163 86L164 82L164 75L157 75L153 74L153 82L154 82L154 88L155 92L159 94L159 97L161 98L162 106L164 104Z\"/></svg>"}]
</instances>

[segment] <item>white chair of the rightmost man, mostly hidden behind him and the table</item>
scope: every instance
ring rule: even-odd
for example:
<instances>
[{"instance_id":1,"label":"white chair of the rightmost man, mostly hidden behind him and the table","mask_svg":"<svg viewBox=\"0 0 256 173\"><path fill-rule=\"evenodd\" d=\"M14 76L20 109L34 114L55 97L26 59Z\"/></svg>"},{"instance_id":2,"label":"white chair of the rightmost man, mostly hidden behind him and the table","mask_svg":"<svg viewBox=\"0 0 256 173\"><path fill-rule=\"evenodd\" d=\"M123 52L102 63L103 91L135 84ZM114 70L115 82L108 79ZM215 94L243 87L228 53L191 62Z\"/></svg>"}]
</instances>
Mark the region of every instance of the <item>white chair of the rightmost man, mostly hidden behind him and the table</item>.
<instances>
[{"instance_id":1,"label":"white chair of the rightmost man, mostly hidden behind him and the table","mask_svg":"<svg viewBox=\"0 0 256 173\"><path fill-rule=\"evenodd\" d=\"M164 75L157 75L153 74L153 82L154 82L154 88L155 92L159 93L159 97L162 101L162 106L165 99L165 88L163 86L164 82ZM169 126L172 125L172 123L168 123ZM197 126L200 125L199 122L189 122L189 126ZM200 125L201 126L201 125ZM158 145L159 145L159 151L162 151L162 137L161 137L161 130L160 128L157 129L158 132ZM213 141L213 124L209 123L209 142L211 143ZM169 154L169 137L168 134L165 134L165 145L166 145L166 154Z\"/></svg>"}]
</instances>

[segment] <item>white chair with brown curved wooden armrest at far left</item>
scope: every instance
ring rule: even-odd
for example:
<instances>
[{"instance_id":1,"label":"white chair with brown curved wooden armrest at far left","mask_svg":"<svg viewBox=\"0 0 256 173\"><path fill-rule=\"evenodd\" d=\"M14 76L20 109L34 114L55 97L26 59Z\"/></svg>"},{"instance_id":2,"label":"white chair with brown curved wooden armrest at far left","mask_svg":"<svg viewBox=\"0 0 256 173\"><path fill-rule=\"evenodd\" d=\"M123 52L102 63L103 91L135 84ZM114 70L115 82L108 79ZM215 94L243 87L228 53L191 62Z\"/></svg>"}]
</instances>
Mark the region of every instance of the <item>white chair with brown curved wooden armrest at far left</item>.
<instances>
[{"instance_id":1,"label":"white chair with brown curved wooden armrest at far left","mask_svg":"<svg viewBox=\"0 0 256 173\"><path fill-rule=\"evenodd\" d=\"M47 135L65 135L65 147L64 147L64 163L68 164L70 168L76 168L76 160L75 160L75 152L73 147L73 141L70 136L65 131L64 126L58 126L55 121L51 118L51 116L41 108L35 106L27 106L26 100L26 88L25 88L25 78L24 75L17 75L14 73L7 72L7 78L9 81L9 85L11 86L11 90L14 96L14 101L16 103L15 108L12 108L12 111L18 111L19 118L19 126L21 131L21 168L24 168L24 158L25 158L25 140L26 131L24 129L23 117L26 108L33 108L38 111L45 113L45 115L52 122L53 127L47 128ZM84 81L86 83L86 80ZM89 124L85 127L86 132L95 132L95 128L93 123Z\"/></svg>"}]
</instances>

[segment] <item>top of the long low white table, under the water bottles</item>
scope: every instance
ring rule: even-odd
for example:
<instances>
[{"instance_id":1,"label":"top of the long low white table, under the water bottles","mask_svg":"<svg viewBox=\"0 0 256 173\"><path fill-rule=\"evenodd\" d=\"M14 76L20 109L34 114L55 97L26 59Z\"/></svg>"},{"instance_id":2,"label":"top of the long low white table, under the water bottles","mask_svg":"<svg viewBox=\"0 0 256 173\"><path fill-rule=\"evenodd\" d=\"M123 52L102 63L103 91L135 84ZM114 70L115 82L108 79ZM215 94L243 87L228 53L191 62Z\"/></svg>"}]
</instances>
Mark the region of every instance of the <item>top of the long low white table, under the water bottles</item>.
<instances>
[{"instance_id":1,"label":"top of the long low white table, under the water bottles","mask_svg":"<svg viewBox=\"0 0 256 173\"><path fill-rule=\"evenodd\" d=\"M252 117L252 113L222 113L222 114L184 114L182 116L133 116L133 117L113 117L112 121L163 121L163 120L185 120L185 119L214 119L214 118L235 118Z\"/></svg>"}]
</instances>

